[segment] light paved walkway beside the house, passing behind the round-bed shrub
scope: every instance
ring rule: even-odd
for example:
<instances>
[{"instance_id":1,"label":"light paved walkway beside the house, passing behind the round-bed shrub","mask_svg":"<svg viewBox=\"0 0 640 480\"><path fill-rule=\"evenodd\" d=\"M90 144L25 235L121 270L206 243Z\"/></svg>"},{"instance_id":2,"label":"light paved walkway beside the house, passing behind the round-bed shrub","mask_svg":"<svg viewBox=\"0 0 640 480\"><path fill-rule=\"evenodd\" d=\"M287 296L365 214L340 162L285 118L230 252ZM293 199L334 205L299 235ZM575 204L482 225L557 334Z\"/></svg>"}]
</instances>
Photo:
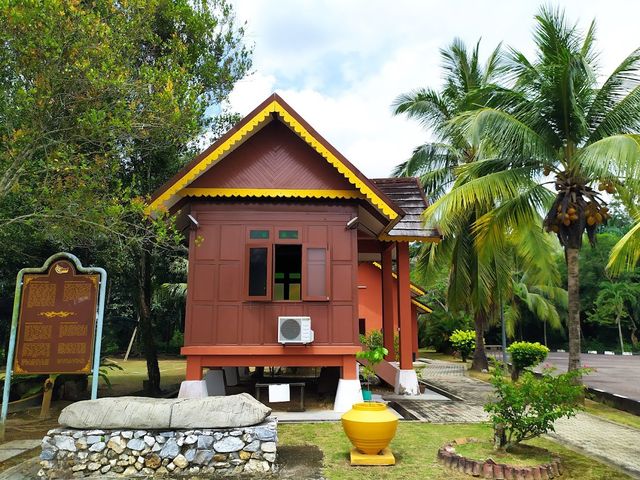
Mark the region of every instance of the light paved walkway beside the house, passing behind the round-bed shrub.
<instances>
[{"instance_id":1,"label":"light paved walkway beside the house, passing behind the round-bed shrub","mask_svg":"<svg viewBox=\"0 0 640 480\"><path fill-rule=\"evenodd\" d=\"M422 421L433 423L487 421L488 415L482 406L491 398L493 387L486 382L460 376L455 368L460 365L450 363L450 369L447 369L436 363L447 362L429 361L428 365L432 365L431 371L423 370L423 379L427 384L453 394L457 400L448 402L399 400L397 402ZM640 430L638 429L582 412L573 418L556 422L556 431L549 436L563 445L582 450L640 479Z\"/></svg>"}]
</instances>

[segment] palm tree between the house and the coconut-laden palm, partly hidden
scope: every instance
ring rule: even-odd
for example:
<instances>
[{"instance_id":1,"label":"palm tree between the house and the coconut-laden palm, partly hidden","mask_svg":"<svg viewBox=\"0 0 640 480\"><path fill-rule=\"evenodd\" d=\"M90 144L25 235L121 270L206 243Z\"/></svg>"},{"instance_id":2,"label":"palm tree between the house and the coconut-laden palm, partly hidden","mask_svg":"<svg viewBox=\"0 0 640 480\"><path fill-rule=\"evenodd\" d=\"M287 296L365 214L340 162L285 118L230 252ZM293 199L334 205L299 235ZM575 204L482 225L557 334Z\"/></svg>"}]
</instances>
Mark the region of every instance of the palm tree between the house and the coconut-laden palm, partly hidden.
<instances>
[{"instance_id":1,"label":"palm tree between the house and the coconut-laden palm, partly hidden","mask_svg":"<svg viewBox=\"0 0 640 480\"><path fill-rule=\"evenodd\" d=\"M395 176L418 176L431 200L440 198L453 184L458 166L476 160L474 146L460 130L449 128L449 124L455 116L484 105L502 71L500 46L493 50L484 65L480 62L479 50L480 42L468 52L464 43L455 39L440 51L445 74L442 90L415 90L400 95L393 103L396 115L418 120L436 136L435 142L417 147L411 158L393 172ZM476 340L471 366L474 370L488 368L484 330L491 310L495 308L490 294L493 282L487 272L490 266L481 264L471 235L471 225L478 214L469 208L455 218L450 217L442 243L422 247L418 262L418 268L424 272L437 269L449 260L448 308L469 310L474 316ZM442 259L439 266L432 262L436 252Z\"/></svg>"}]
</instances>

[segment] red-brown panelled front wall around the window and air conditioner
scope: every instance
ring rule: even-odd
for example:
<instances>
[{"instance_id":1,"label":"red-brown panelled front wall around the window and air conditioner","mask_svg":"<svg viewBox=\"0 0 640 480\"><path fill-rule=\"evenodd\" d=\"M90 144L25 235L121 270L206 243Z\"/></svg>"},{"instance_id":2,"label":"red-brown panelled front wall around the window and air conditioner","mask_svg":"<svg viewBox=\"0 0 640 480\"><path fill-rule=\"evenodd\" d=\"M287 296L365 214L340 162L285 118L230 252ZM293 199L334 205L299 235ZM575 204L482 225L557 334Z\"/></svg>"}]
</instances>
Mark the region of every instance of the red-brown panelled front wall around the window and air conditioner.
<instances>
[{"instance_id":1,"label":"red-brown panelled front wall around the window and air conditioner","mask_svg":"<svg viewBox=\"0 0 640 480\"><path fill-rule=\"evenodd\" d=\"M357 237L345 228L355 205L194 201L191 214L185 346L277 345L279 315L310 316L314 345L359 345ZM265 228L273 244L279 229L299 228L300 243L328 246L328 301L245 299L249 230Z\"/></svg>"}]
</instances>

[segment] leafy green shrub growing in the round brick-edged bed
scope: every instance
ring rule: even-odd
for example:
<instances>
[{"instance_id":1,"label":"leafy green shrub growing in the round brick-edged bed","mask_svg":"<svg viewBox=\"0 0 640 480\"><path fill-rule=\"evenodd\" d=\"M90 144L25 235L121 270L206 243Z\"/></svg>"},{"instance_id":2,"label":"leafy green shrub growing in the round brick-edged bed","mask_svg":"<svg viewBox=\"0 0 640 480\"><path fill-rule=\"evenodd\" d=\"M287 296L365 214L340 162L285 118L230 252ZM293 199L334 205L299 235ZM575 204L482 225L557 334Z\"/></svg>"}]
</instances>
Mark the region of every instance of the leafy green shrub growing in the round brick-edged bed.
<instances>
[{"instance_id":1,"label":"leafy green shrub growing in the round brick-edged bed","mask_svg":"<svg viewBox=\"0 0 640 480\"><path fill-rule=\"evenodd\" d=\"M497 367L491 378L497 399L484 406L493 424L496 448L508 449L554 431L556 420L574 416L581 410L578 402L584 395L584 386L576 383L586 372L572 370L554 376L547 369L540 378L525 372L520 381L510 382L502 367Z\"/></svg>"}]
</instances>

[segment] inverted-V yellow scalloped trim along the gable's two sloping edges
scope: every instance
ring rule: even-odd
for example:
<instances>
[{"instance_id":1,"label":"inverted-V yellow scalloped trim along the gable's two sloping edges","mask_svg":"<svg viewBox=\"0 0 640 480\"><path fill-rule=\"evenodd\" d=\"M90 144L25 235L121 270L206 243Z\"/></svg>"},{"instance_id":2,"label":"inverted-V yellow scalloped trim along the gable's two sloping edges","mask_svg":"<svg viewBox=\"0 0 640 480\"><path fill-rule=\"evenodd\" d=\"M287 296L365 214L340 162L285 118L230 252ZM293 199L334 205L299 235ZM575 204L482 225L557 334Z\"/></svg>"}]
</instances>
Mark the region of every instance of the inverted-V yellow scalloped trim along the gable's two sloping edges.
<instances>
[{"instance_id":1,"label":"inverted-V yellow scalloped trim along the gable's two sloping edges","mask_svg":"<svg viewBox=\"0 0 640 480\"><path fill-rule=\"evenodd\" d=\"M272 112L277 112L280 117L286 122L294 132L296 132L309 146L311 146L316 152L324 157L336 170L338 170L350 183L352 183L359 191L366 197L378 210L380 210L390 220L395 220L398 217L398 213L386 202L384 202L378 195L373 192L364 182L362 182L357 175L355 175L349 168L347 168L333 153L331 153L317 138L315 138L300 122L298 122L285 108L278 103L277 100L273 100L269 105L260 110L253 118L251 118L245 125L238 129L231 137L223 142L218 148L209 153L200 162L197 163L191 170L171 185L166 191L156 198L146 209L147 214L151 214L154 210L162 210L164 203L174 195L179 195L179 192L198 175L203 173L207 168L211 167L222 159L225 152L229 151L231 147L241 141L251 131L253 131L259 124L269 118Z\"/></svg>"}]
</instances>

